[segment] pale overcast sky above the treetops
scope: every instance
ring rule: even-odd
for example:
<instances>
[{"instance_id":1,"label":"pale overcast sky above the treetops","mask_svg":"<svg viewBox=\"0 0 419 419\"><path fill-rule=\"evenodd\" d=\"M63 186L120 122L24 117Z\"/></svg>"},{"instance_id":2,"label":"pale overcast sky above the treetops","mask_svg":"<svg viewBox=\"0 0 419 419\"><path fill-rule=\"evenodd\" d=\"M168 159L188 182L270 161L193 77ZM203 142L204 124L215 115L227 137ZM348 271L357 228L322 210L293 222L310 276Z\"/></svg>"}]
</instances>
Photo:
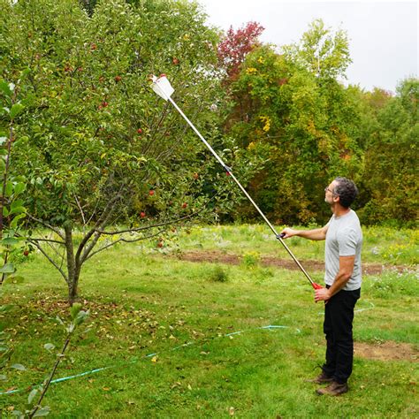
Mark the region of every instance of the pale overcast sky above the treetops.
<instances>
[{"instance_id":1,"label":"pale overcast sky above the treetops","mask_svg":"<svg viewBox=\"0 0 419 419\"><path fill-rule=\"evenodd\" d=\"M347 31L353 64L347 82L371 90L395 91L398 82L417 77L418 2L412 1L286 1L197 0L211 25L237 29L248 21L265 30L263 42L278 46L298 42L314 19ZM347 84L346 82L346 84Z\"/></svg>"}]
</instances>

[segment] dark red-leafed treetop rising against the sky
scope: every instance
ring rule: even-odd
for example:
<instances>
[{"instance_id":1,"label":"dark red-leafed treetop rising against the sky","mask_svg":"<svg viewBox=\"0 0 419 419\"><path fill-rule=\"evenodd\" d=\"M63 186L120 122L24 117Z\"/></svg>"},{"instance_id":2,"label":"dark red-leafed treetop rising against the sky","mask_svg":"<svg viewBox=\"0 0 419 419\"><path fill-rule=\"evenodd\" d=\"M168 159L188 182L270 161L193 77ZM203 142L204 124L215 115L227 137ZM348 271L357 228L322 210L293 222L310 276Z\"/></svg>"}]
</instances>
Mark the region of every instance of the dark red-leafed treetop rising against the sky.
<instances>
[{"instance_id":1,"label":"dark red-leafed treetop rising against the sky","mask_svg":"<svg viewBox=\"0 0 419 419\"><path fill-rule=\"evenodd\" d=\"M248 22L237 31L230 27L217 50L219 64L225 69L227 79L234 80L238 76L240 64L260 44L258 37L263 31L264 27L257 22Z\"/></svg>"}]
</instances>

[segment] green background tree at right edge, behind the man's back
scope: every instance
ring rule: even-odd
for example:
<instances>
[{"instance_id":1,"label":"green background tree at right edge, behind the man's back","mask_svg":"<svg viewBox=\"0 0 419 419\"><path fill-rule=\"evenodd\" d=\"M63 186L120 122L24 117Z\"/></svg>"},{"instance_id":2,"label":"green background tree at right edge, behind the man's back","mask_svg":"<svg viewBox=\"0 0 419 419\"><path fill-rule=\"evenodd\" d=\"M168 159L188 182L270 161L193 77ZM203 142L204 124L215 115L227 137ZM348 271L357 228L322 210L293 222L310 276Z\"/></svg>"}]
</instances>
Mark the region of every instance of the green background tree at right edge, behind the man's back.
<instances>
[{"instance_id":1,"label":"green background tree at right edge, behind the man's back","mask_svg":"<svg viewBox=\"0 0 419 419\"><path fill-rule=\"evenodd\" d=\"M381 95L377 123L369 132L362 187L369 202L362 217L371 224L406 225L418 217L417 160L419 80L400 82L395 97Z\"/></svg>"}]
</instances>

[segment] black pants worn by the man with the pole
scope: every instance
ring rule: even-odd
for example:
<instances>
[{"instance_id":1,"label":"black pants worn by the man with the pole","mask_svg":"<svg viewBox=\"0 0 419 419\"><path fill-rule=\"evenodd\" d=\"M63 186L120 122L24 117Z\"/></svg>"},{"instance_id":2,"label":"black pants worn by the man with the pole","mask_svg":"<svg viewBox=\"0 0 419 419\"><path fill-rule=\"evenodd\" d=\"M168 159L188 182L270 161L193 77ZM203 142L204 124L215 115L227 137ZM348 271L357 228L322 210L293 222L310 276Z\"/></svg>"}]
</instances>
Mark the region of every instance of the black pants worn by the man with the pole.
<instances>
[{"instance_id":1,"label":"black pants worn by the man with the pole","mask_svg":"<svg viewBox=\"0 0 419 419\"><path fill-rule=\"evenodd\" d=\"M324 305L323 330L327 348L323 370L339 384L346 383L352 373L354 362L352 322L354 307L360 295L361 288L354 291L340 290Z\"/></svg>"}]
</instances>

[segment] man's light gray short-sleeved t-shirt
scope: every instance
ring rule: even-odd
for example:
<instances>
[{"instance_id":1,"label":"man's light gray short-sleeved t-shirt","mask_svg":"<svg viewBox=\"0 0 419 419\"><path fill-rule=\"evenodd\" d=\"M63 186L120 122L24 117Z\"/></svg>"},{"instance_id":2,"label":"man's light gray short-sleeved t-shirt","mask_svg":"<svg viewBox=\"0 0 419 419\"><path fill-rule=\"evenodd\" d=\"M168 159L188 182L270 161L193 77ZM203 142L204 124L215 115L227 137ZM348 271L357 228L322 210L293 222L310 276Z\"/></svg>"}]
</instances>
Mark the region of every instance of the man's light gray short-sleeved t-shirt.
<instances>
[{"instance_id":1,"label":"man's light gray short-sleeved t-shirt","mask_svg":"<svg viewBox=\"0 0 419 419\"><path fill-rule=\"evenodd\" d=\"M346 286L342 289L353 291L361 287L361 248L362 231L360 220L355 211L350 211L341 217L331 216L328 223L325 245L324 281L331 286L339 272L339 256L355 256L354 271Z\"/></svg>"}]
</instances>

